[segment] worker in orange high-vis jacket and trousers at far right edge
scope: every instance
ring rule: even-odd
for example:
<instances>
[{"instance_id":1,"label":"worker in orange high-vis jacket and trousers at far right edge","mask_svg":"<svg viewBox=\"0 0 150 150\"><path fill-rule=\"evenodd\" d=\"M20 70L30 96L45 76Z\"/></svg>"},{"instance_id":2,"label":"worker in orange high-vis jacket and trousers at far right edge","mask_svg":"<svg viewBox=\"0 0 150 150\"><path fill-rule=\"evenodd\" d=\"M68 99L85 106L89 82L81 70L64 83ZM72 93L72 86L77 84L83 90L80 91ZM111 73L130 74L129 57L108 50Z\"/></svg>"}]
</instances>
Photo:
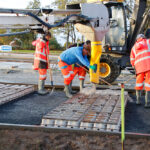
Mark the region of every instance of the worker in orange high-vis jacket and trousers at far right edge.
<instances>
[{"instance_id":1,"label":"worker in orange high-vis jacket and trousers at far right edge","mask_svg":"<svg viewBox=\"0 0 150 150\"><path fill-rule=\"evenodd\" d=\"M145 81L145 107L150 108L150 39L146 39L143 34L136 38L130 61L136 70L136 104L141 104L141 92Z\"/></svg>"}]
</instances>

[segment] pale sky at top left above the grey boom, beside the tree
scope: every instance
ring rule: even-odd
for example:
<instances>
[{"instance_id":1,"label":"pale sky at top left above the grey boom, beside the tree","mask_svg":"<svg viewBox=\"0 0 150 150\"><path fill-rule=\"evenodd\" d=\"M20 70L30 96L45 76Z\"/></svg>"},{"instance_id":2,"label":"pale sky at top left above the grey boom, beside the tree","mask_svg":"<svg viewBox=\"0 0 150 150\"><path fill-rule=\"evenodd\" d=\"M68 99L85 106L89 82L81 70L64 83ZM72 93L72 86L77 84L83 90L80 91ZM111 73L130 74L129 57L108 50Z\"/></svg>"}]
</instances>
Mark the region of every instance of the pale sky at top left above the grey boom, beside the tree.
<instances>
[{"instance_id":1,"label":"pale sky at top left above the grey boom, beside the tree","mask_svg":"<svg viewBox=\"0 0 150 150\"><path fill-rule=\"evenodd\" d=\"M0 0L0 8L26 8L32 0ZM41 6L50 5L52 0L40 0Z\"/></svg>"}]
</instances>

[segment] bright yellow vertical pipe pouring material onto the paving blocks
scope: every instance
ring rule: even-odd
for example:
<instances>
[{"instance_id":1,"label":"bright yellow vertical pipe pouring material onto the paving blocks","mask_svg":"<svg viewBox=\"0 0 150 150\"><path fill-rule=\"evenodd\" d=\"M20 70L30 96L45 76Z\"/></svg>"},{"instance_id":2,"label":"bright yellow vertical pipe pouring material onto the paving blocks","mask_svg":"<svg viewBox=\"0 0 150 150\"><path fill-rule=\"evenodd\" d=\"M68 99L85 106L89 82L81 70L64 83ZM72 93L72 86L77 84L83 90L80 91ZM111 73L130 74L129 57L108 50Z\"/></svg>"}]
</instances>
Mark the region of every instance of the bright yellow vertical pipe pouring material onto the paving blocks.
<instances>
[{"instance_id":1,"label":"bright yellow vertical pipe pouring material onto the paving blocks","mask_svg":"<svg viewBox=\"0 0 150 150\"><path fill-rule=\"evenodd\" d=\"M97 71L94 72L90 69L90 81L93 83L99 83L99 68L100 68L100 57L102 55L102 44L101 41L91 42L91 60L90 65L97 64Z\"/></svg>"}]
</instances>

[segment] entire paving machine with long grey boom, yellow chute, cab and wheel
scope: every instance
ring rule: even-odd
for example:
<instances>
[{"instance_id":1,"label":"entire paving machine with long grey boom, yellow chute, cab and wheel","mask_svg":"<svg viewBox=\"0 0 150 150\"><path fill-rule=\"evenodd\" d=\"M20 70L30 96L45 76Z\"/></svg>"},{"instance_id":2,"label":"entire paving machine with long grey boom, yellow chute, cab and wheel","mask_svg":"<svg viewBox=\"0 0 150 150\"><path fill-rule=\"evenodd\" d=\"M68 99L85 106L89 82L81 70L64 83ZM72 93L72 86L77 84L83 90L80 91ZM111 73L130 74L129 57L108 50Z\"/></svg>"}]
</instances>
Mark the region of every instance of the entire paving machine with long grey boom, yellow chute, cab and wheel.
<instances>
[{"instance_id":1,"label":"entire paving machine with long grey boom, yellow chute, cab and wheel","mask_svg":"<svg viewBox=\"0 0 150 150\"><path fill-rule=\"evenodd\" d=\"M74 23L86 39L96 42L91 64L97 66L97 71L90 71L91 82L103 83L99 81L100 77L111 83L121 70L127 68L132 71L129 55L137 34L150 35L149 0L135 0L133 4L133 10L124 0L88 0L85 4L68 4L66 10L0 8L0 14L13 14L0 16L3 20L0 29L26 29L0 36L30 31L42 33L66 22Z\"/></svg>"}]
</instances>

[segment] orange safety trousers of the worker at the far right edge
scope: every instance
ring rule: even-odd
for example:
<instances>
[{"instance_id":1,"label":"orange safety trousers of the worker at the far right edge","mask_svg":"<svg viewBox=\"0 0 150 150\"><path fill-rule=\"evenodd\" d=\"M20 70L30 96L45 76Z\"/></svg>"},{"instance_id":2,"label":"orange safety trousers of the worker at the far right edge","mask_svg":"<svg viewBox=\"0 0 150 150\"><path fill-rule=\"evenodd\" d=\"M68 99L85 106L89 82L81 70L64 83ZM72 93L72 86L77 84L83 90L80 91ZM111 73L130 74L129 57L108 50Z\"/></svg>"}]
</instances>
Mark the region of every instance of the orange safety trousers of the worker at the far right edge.
<instances>
[{"instance_id":1,"label":"orange safety trousers of the worker at the far right edge","mask_svg":"<svg viewBox=\"0 0 150 150\"><path fill-rule=\"evenodd\" d=\"M150 71L139 73L136 77L136 90L142 90L145 81L145 90L150 91Z\"/></svg>"}]
</instances>

